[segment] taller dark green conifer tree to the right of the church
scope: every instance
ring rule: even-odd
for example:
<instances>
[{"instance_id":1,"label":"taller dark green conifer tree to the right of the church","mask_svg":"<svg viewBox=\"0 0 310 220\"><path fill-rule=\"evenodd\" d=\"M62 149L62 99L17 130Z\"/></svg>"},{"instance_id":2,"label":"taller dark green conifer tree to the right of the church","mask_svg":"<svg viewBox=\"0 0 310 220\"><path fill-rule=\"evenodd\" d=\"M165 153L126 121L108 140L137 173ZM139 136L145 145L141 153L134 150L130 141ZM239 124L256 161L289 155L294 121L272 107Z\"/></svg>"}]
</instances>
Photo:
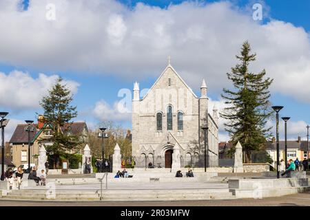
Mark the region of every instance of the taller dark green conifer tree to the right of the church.
<instances>
[{"instance_id":1,"label":"taller dark green conifer tree to the right of the church","mask_svg":"<svg viewBox=\"0 0 310 220\"><path fill-rule=\"evenodd\" d=\"M270 137L271 128L266 128L266 123L273 114L269 103L269 86L273 79L265 78L265 69L258 74L249 72L249 64L256 60L256 54L250 52L246 41L240 55L236 56L240 63L227 73L234 90L223 89L222 97L228 107L220 113L227 120L225 130L231 142L236 145L240 141L245 162L251 162L251 151L258 151Z\"/></svg>"}]
</instances>

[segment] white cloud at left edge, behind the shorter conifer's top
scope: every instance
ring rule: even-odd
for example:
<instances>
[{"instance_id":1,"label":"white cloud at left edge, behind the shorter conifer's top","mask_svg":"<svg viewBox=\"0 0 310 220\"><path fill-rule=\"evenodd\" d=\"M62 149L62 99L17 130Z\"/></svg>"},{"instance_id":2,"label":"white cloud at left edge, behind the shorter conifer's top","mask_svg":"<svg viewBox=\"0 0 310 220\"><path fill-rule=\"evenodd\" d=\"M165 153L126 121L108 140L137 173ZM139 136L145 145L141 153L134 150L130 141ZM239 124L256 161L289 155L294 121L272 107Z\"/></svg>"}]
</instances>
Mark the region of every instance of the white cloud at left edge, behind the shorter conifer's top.
<instances>
[{"instance_id":1,"label":"white cloud at left edge, behind the shorter conifer's top","mask_svg":"<svg viewBox=\"0 0 310 220\"><path fill-rule=\"evenodd\" d=\"M48 94L58 77L39 74L38 78L32 78L30 74L16 70L9 74L0 72L0 105L13 111L37 109L41 98ZM63 83L76 93L78 83L70 80Z\"/></svg>"}]
</instances>

